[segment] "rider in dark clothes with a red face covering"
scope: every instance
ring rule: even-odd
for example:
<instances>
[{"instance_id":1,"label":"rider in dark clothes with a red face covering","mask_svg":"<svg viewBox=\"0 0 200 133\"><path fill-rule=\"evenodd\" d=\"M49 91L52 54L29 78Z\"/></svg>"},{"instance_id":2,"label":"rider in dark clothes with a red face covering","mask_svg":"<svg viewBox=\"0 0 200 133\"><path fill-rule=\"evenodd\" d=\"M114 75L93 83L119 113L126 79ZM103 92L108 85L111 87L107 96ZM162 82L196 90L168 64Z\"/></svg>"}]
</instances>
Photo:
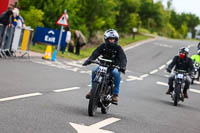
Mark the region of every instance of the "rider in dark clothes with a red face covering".
<instances>
[{"instance_id":1,"label":"rider in dark clothes with a red face covering","mask_svg":"<svg viewBox=\"0 0 200 133\"><path fill-rule=\"evenodd\" d=\"M166 69L167 72L171 73L173 67L175 67L175 70L176 69L185 70L186 72L189 73L189 75L191 75L193 71L193 62L192 59L188 57L188 54L189 54L188 48L181 48L179 50L179 55L174 56L173 61L169 64L168 68ZM185 98L188 98L187 90L189 89L191 83L191 78L189 75L186 76L185 86L183 89L183 94ZM172 74L168 79L169 89L167 90L166 94L171 94L171 92L174 90L173 87L174 79L175 79L175 74Z\"/></svg>"}]
</instances>

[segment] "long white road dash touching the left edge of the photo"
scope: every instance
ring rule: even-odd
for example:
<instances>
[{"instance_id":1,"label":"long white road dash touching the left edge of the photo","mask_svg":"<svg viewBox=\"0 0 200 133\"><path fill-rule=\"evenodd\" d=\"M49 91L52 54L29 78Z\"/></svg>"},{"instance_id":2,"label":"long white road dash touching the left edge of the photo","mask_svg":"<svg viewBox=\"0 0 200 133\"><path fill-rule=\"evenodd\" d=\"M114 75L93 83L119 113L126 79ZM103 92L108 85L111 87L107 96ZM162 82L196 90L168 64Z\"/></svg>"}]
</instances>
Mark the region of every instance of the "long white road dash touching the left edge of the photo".
<instances>
[{"instance_id":1,"label":"long white road dash touching the left edge of the photo","mask_svg":"<svg viewBox=\"0 0 200 133\"><path fill-rule=\"evenodd\" d=\"M21 98L27 98L27 97L40 96L40 95L42 95L42 93L30 93L30 94L12 96L12 97L7 97L7 98L2 98L2 99L0 99L0 102L16 100L16 99L21 99Z\"/></svg>"}]
</instances>

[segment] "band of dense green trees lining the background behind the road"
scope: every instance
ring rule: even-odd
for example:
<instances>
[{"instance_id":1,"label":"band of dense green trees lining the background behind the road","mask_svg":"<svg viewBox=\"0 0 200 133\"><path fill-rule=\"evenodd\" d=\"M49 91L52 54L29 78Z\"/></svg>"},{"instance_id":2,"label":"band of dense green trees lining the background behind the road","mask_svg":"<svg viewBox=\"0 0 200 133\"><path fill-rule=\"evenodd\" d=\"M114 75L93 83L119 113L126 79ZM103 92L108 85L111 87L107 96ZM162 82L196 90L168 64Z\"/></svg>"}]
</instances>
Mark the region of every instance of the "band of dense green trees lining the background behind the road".
<instances>
[{"instance_id":1,"label":"band of dense green trees lining the background behind the road","mask_svg":"<svg viewBox=\"0 0 200 133\"><path fill-rule=\"evenodd\" d=\"M168 0L165 9L161 1L154 0L19 0L21 15L26 25L60 29L56 21L67 9L70 29L81 30L89 41L98 31L115 28L130 33L133 27L173 38L195 33L200 23L194 14L178 14ZM142 31L142 30L141 30Z\"/></svg>"}]
</instances>

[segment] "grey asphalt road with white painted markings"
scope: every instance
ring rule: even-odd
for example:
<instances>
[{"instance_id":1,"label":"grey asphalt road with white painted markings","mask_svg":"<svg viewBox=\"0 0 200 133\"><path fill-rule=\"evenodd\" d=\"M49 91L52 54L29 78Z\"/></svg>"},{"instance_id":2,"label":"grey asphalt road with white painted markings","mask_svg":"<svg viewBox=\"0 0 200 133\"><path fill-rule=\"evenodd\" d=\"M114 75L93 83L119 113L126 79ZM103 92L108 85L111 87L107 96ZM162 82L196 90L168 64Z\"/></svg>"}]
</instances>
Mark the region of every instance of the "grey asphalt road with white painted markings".
<instances>
[{"instance_id":1,"label":"grey asphalt road with white painted markings","mask_svg":"<svg viewBox=\"0 0 200 133\"><path fill-rule=\"evenodd\" d=\"M199 133L200 84L191 86L189 99L173 106L167 90L166 66L178 49L195 41L163 38L125 48L119 105L108 114L87 114L90 72L94 65L57 59L0 60L1 133Z\"/></svg>"}]
</instances>

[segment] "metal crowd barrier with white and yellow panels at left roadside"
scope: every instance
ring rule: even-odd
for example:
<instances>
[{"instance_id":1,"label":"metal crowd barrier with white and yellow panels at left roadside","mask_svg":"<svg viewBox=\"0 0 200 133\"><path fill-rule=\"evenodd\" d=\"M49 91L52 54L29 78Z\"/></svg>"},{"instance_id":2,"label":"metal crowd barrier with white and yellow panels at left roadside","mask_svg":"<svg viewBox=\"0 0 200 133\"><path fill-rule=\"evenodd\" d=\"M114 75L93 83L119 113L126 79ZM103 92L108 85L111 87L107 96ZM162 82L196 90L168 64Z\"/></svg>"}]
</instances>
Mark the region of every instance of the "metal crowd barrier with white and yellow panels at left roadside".
<instances>
[{"instance_id":1,"label":"metal crowd barrier with white and yellow panels at left roadside","mask_svg":"<svg viewBox=\"0 0 200 133\"><path fill-rule=\"evenodd\" d=\"M29 56L33 29L0 25L0 57Z\"/></svg>"}]
</instances>

